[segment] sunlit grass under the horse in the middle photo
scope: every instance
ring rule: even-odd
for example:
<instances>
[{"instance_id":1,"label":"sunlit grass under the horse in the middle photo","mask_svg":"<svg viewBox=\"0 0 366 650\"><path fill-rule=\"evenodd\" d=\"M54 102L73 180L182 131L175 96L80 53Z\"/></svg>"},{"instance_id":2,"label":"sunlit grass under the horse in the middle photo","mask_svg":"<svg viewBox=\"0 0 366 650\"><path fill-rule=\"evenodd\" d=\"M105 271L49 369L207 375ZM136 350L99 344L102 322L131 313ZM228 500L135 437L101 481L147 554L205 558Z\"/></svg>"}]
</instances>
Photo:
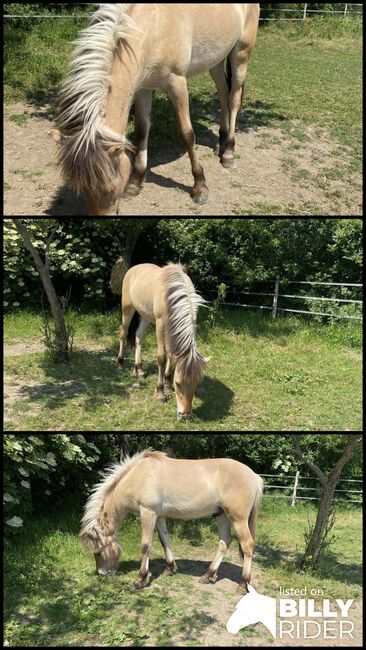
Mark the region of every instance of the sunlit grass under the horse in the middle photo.
<instances>
[{"instance_id":1,"label":"sunlit grass under the horse in the middle photo","mask_svg":"<svg viewBox=\"0 0 366 650\"><path fill-rule=\"evenodd\" d=\"M5 429L44 431L358 431L362 429L362 330L357 323L321 325L241 311L198 324L198 349L212 357L197 388L193 417L176 422L175 398L159 405L156 344L145 339L146 378L132 376L133 356L118 374L118 312L74 314L75 351L55 365L39 343L40 318L5 316L9 398Z\"/></svg>"}]
</instances>

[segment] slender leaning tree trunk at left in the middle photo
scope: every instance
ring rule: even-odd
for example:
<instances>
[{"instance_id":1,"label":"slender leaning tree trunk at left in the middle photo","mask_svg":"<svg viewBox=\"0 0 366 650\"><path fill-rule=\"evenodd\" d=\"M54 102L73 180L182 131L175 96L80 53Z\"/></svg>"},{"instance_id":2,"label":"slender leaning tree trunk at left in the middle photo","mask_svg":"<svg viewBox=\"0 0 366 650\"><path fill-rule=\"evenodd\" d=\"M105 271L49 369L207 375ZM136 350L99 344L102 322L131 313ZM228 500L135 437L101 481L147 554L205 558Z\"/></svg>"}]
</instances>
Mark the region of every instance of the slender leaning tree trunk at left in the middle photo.
<instances>
[{"instance_id":1,"label":"slender leaning tree trunk at left in the middle photo","mask_svg":"<svg viewBox=\"0 0 366 650\"><path fill-rule=\"evenodd\" d=\"M56 345L57 345L57 358L62 361L67 361L69 358L69 340L67 329L59 299L52 284L51 277L43 264L37 249L33 246L27 228L19 219L13 219L17 231L21 235L27 249L32 255L37 270L41 276L41 280L50 303L51 311L56 325Z\"/></svg>"}]
</instances>

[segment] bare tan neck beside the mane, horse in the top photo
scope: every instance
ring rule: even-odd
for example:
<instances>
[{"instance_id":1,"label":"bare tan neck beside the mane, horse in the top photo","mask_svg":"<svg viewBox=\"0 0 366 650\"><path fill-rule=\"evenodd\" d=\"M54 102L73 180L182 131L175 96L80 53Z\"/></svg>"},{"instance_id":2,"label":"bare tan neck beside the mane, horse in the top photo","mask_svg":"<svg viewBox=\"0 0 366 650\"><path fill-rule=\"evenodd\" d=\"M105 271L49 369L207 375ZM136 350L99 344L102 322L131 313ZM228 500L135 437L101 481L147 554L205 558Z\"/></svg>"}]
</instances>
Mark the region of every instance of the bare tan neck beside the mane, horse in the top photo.
<instances>
[{"instance_id":1,"label":"bare tan neck beside the mane, horse in the top photo","mask_svg":"<svg viewBox=\"0 0 366 650\"><path fill-rule=\"evenodd\" d=\"M111 71L105 124L115 133L124 135L134 95L138 90L140 66L139 57L129 51L115 54Z\"/></svg>"}]
</instances>

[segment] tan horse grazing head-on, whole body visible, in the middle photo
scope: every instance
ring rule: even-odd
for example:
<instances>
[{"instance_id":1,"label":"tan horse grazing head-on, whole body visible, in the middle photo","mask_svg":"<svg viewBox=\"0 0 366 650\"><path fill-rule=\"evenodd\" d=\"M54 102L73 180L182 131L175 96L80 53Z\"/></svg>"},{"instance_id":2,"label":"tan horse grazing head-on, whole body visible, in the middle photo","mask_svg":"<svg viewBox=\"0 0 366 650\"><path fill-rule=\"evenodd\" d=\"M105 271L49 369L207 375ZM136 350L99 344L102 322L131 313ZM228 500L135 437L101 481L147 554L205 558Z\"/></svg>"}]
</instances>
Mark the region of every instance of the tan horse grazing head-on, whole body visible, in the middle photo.
<instances>
[{"instance_id":1,"label":"tan horse grazing head-on, whole body visible, in the middle photo","mask_svg":"<svg viewBox=\"0 0 366 650\"><path fill-rule=\"evenodd\" d=\"M135 336L134 376L144 377L142 342L149 324L154 323L158 346L156 399L164 403L164 389L174 390L179 420L190 417L194 392L210 361L203 358L196 348L197 310L205 304L180 264L168 264L163 268L155 264L138 264L129 269L123 279L117 368L123 370L126 339L137 312L141 320ZM172 385L170 375L173 368Z\"/></svg>"}]
</instances>

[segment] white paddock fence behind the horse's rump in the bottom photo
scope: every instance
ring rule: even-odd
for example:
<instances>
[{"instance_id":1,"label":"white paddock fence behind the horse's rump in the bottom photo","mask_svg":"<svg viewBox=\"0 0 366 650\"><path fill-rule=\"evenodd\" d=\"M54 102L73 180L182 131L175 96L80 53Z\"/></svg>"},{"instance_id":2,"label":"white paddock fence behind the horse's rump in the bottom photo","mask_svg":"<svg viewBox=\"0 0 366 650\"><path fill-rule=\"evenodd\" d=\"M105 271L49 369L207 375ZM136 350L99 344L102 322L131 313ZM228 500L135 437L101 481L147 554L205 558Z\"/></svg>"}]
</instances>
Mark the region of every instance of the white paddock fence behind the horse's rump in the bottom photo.
<instances>
[{"instance_id":1,"label":"white paddock fence behind the horse's rump in the bottom photo","mask_svg":"<svg viewBox=\"0 0 366 650\"><path fill-rule=\"evenodd\" d=\"M294 507L297 501L319 501L320 499L320 486L316 477L301 476L300 472L296 472L294 476L282 474L260 474L260 476L264 479L264 498L288 499L291 500L291 507ZM314 486L314 481L318 484L317 487ZM335 502L362 506L362 483L362 479L340 479L341 487L335 490ZM360 489L357 489L358 487ZM351 498L344 498L346 494L351 495Z\"/></svg>"}]
</instances>

